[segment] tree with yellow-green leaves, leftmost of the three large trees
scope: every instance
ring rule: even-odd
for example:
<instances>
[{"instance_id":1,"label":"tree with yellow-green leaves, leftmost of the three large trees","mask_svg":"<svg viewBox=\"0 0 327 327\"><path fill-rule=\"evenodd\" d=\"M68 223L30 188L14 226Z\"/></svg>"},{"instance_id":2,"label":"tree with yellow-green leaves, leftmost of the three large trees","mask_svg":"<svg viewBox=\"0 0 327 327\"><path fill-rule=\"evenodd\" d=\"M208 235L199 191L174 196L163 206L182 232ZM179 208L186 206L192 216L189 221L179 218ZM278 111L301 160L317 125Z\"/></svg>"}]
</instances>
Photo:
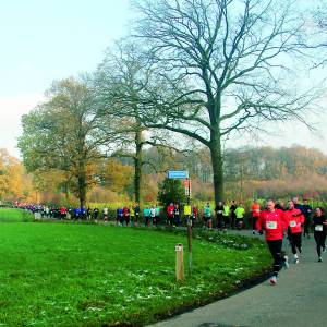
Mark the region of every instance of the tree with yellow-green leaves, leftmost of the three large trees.
<instances>
[{"instance_id":1,"label":"tree with yellow-green leaves, leftmost of the three large trees","mask_svg":"<svg viewBox=\"0 0 327 327\"><path fill-rule=\"evenodd\" d=\"M84 80L55 82L47 100L23 116L19 147L29 172L61 170L68 187L85 206L86 192L96 183L94 168L111 141L110 122L98 114Z\"/></svg>"}]
</instances>

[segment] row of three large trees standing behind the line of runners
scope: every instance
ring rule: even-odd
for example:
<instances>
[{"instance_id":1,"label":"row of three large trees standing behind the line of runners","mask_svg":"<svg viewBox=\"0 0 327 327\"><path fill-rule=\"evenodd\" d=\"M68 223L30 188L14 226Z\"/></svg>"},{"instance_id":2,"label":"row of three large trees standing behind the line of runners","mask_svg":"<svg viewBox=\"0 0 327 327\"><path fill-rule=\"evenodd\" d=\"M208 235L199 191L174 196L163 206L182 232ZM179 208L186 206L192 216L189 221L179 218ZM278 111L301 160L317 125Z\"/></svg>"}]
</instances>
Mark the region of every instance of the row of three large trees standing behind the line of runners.
<instances>
[{"instance_id":1,"label":"row of three large trees standing behind the line of runners","mask_svg":"<svg viewBox=\"0 0 327 327\"><path fill-rule=\"evenodd\" d=\"M84 206L87 190L104 182L96 173L102 159L131 158L140 202L143 167L153 166L147 145L162 156L201 146L209 152L218 202L226 140L261 131L266 121L306 122L322 88L295 81L322 62L325 45L314 29L324 26L293 1L135 3L133 35L108 49L96 72L53 82L47 100L23 117L24 165L28 172L59 171Z\"/></svg>"}]
</instances>

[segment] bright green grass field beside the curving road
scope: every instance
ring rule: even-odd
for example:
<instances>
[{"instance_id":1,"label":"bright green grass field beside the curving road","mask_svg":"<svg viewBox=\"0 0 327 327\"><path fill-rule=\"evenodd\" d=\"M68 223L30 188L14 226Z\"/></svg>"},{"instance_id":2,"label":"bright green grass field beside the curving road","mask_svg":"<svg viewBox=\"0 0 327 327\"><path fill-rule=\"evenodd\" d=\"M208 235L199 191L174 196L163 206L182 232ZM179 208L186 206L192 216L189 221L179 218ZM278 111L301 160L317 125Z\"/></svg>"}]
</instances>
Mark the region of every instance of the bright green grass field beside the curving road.
<instances>
[{"instance_id":1,"label":"bright green grass field beside the curving road","mask_svg":"<svg viewBox=\"0 0 327 327\"><path fill-rule=\"evenodd\" d=\"M230 246L242 238L210 240L194 238L192 278L177 282L174 246L186 247L184 233L0 223L0 326L145 325L230 293L270 265L256 240L247 250ZM184 262L186 272L186 255Z\"/></svg>"}]
</instances>

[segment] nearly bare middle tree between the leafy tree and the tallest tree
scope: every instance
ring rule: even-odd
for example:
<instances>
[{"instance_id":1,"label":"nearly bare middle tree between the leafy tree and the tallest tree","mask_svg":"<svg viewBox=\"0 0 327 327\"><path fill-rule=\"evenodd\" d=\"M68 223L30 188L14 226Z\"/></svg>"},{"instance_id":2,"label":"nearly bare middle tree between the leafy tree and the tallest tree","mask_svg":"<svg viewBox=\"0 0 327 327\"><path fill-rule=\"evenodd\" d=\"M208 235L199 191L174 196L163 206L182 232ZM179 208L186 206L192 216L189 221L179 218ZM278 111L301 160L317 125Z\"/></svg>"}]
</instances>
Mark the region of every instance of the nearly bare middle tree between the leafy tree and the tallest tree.
<instances>
[{"instance_id":1,"label":"nearly bare middle tree between the leafy tree and the tallest tree","mask_svg":"<svg viewBox=\"0 0 327 327\"><path fill-rule=\"evenodd\" d=\"M112 156L133 159L137 203L142 198L142 167L152 164L144 159L144 147L172 148L160 131L149 131L142 120L141 99L144 93L148 95L149 85L157 85L150 59L138 45L120 40L106 53L94 83L102 116L117 121L114 131L120 135L120 145Z\"/></svg>"}]
</instances>

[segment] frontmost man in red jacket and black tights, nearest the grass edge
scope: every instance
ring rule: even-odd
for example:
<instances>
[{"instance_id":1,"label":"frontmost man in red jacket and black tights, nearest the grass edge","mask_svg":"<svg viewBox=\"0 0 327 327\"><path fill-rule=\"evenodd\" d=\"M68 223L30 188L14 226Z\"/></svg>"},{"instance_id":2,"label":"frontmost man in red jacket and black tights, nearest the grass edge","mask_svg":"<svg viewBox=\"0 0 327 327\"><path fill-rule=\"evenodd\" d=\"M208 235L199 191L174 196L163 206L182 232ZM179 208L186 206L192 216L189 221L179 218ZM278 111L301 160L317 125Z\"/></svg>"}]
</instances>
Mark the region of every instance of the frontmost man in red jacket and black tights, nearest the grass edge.
<instances>
[{"instance_id":1,"label":"frontmost man in red jacket and black tights, nearest the grass edge","mask_svg":"<svg viewBox=\"0 0 327 327\"><path fill-rule=\"evenodd\" d=\"M288 220L283 211L275 209L274 201L269 199L267 209L261 213L255 227L259 232L265 230L266 241L274 258L272 277L269 281L270 284L275 286L278 272L286 261L281 254L281 246L283 233L288 228Z\"/></svg>"}]
</instances>

